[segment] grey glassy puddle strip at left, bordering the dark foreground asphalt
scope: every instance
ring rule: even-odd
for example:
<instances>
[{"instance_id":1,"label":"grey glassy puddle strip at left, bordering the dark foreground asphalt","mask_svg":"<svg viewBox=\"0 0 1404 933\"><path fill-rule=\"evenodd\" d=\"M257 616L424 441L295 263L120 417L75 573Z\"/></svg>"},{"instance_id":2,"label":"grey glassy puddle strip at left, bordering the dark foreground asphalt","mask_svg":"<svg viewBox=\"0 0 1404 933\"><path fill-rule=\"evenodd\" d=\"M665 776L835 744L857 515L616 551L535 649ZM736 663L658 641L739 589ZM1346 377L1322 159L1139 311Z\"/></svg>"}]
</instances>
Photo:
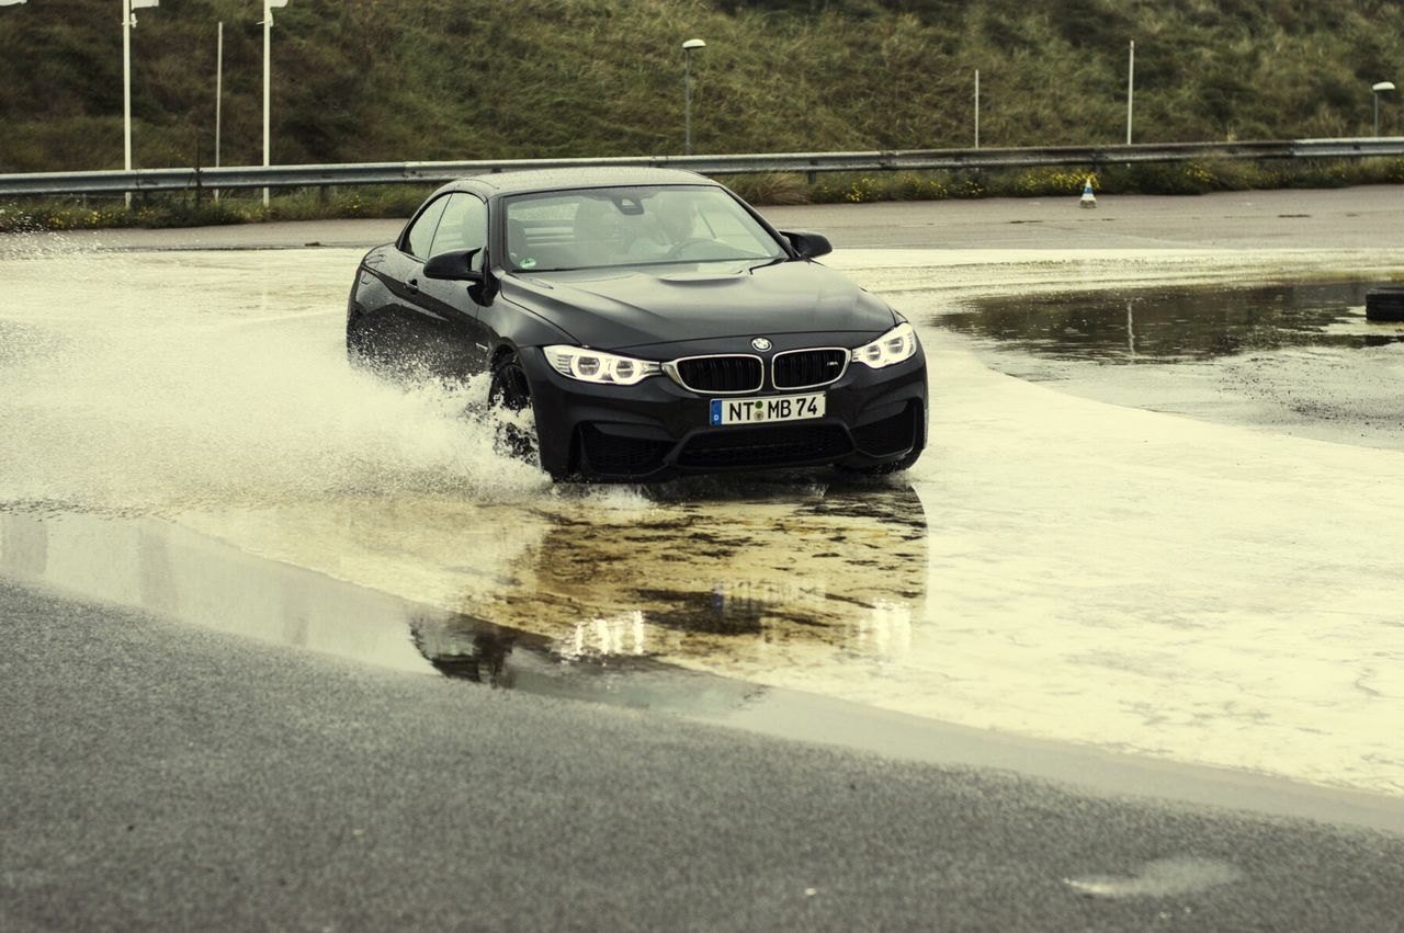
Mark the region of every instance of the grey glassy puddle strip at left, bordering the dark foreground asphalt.
<instances>
[{"instance_id":1,"label":"grey glassy puddle strip at left, bordering the dark foreground asphalt","mask_svg":"<svg viewBox=\"0 0 1404 933\"><path fill-rule=\"evenodd\" d=\"M260 558L154 516L0 512L0 571L184 624L382 668L706 714L755 687L640 659L564 657L557 640ZM671 686L670 686L671 685Z\"/></svg>"}]
</instances>

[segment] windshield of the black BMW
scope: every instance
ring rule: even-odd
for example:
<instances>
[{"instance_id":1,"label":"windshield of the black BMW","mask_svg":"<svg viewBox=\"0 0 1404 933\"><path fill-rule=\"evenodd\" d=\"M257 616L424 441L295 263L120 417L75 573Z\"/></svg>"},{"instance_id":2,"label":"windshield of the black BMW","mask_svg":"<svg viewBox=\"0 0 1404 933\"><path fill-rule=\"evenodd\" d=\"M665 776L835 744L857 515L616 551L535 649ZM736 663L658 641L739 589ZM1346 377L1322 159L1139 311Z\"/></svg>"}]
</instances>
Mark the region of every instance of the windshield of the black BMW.
<instances>
[{"instance_id":1,"label":"windshield of the black BMW","mask_svg":"<svg viewBox=\"0 0 1404 933\"><path fill-rule=\"evenodd\" d=\"M720 188L587 188L507 199L507 260L514 271L786 255Z\"/></svg>"}]
</instances>

